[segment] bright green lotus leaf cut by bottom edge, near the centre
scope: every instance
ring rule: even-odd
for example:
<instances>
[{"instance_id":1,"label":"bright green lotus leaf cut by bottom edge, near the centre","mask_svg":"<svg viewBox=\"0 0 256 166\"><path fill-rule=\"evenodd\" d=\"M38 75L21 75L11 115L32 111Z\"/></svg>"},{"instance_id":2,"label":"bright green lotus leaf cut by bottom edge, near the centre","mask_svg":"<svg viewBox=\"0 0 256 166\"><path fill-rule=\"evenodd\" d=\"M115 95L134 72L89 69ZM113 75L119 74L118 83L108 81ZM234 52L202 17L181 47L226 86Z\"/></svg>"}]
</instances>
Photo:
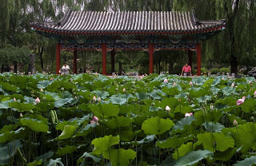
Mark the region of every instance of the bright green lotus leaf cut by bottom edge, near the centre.
<instances>
[{"instance_id":1,"label":"bright green lotus leaf cut by bottom edge, near the centre","mask_svg":"<svg viewBox=\"0 0 256 166\"><path fill-rule=\"evenodd\" d=\"M103 157L111 161L112 166L128 166L136 157L136 152L131 149L110 148L109 151L103 152Z\"/></svg>"}]
</instances>

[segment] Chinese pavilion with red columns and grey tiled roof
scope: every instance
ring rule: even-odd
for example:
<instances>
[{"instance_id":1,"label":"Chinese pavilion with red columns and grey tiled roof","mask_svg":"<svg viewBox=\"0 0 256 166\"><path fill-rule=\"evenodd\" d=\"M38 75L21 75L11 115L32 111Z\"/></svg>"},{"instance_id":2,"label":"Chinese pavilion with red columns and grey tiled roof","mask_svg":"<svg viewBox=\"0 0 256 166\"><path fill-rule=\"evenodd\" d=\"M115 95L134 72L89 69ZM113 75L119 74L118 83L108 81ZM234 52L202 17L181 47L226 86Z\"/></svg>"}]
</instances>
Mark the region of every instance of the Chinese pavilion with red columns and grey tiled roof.
<instances>
[{"instance_id":1,"label":"Chinese pavilion with red columns and grey tiled roof","mask_svg":"<svg viewBox=\"0 0 256 166\"><path fill-rule=\"evenodd\" d=\"M73 50L77 73L77 50L102 51L102 74L106 75L106 56L110 50L114 72L115 49L149 51L149 73L154 72L154 50L186 49L192 65L192 50L197 53L197 75L201 75L201 42L225 29L225 20L200 21L194 12L124 11L95 12L68 10L58 22L30 22L38 34L57 41L56 73L61 50Z\"/></svg>"}]
</instances>

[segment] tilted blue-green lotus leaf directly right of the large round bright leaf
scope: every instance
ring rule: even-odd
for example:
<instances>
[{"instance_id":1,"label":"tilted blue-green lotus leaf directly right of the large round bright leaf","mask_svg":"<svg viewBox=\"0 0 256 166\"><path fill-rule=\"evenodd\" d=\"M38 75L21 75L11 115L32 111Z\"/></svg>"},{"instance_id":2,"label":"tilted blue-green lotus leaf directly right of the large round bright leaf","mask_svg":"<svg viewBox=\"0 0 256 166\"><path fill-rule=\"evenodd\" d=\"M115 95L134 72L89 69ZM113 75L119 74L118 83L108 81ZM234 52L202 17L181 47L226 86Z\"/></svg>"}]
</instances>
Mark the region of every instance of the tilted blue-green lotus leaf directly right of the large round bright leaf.
<instances>
[{"instance_id":1,"label":"tilted blue-green lotus leaf directly right of the large round bright leaf","mask_svg":"<svg viewBox=\"0 0 256 166\"><path fill-rule=\"evenodd\" d=\"M178 133L183 132L187 128L190 127L190 124L192 124L192 121L194 121L195 118L193 116L191 117L184 117L181 121L178 121L176 125L172 128L171 133Z\"/></svg>"}]
</instances>

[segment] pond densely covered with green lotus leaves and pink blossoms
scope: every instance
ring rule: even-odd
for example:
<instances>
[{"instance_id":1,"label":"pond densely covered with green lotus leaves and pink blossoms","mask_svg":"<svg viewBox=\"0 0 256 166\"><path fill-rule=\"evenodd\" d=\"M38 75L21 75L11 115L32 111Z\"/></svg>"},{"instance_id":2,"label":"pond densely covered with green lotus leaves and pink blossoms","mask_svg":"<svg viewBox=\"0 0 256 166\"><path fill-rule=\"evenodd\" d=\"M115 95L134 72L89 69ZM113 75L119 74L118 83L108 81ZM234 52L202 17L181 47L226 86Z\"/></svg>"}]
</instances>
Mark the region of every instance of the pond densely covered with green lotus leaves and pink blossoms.
<instances>
[{"instance_id":1,"label":"pond densely covered with green lotus leaves and pink blossoms","mask_svg":"<svg viewBox=\"0 0 256 166\"><path fill-rule=\"evenodd\" d=\"M0 165L256 163L254 77L0 79Z\"/></svg>"}]
</instances>

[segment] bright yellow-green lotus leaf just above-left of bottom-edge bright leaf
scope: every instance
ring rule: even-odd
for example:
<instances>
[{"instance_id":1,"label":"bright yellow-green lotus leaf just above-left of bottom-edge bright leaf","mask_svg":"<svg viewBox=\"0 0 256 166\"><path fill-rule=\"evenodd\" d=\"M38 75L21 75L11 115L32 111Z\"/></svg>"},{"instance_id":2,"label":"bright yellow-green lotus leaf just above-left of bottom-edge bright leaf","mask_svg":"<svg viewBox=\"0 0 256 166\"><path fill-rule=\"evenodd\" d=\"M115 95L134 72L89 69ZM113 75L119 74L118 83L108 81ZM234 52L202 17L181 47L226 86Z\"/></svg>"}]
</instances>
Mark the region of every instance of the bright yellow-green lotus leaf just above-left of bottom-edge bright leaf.
<instances>
[{"instance_id":1,"label":"bright yellow-green lotus leaf just above-left of bottom-edge bright leaf","mask_svg":"<svg viewBox=\"0 0 256 166\"><path fill-rule=\"evenodd\" d=\"M95 138L91 144L94 144L94 154L102 154L110 150L111 146L119 143L119 136L104 136Z\"/></svg>"}]
</instances>

